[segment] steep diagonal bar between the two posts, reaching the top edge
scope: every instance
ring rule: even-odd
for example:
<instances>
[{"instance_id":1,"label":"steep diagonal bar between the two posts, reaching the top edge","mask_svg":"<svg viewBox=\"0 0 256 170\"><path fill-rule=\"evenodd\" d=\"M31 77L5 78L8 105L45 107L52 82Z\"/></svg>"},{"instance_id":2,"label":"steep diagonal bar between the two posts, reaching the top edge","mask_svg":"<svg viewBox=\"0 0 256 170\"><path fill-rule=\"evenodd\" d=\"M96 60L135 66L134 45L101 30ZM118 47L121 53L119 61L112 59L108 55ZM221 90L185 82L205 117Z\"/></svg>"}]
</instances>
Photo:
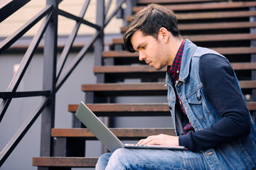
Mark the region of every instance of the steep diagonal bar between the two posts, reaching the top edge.
<instances>
[{"instance_id":1,"label":"steep diagonal bar between the two posts, reaching the top edge","mask_svg":"<svg viewBox=\"0 0 256 170\"><path fill-rule=\"evenodd\" d=\"M85 16L85 12L87 11L87 8L90 4L90 0L87 0L84 4L84 6L82 7L82 10L80 12L80 18L83 18ZM60 59L58 60L58 64L57 64L57 80L60 77L60 74L63 70L63 67L65 65L65 62L68 58L68 54L70 52L70 48L73 45L73 42L75 40L76 35L78 34L78 29L80 28L80 22L77 22L75 24L75 27L73 28L72 33L70 34L70 36L68 37L68 41L65 44L65 47L63 49L63 52L60 55Z\"/></svg>"}]
</instances>

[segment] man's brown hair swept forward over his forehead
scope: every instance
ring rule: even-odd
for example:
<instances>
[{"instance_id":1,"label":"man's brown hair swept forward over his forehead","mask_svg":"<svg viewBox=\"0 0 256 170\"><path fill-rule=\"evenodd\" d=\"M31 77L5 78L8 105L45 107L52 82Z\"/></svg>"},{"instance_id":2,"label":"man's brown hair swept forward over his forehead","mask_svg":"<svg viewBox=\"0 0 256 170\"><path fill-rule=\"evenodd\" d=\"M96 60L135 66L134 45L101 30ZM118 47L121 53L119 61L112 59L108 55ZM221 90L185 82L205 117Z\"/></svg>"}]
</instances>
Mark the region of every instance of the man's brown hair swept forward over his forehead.
<instances>
[{"instance_id":1,"label":"man's brown hair swept forward over his forehead","mask_svg":"<svg viewBox=\"0 0 256 170\"><path fill-rule=\"evenodd\" d=\"M173 11L158 4L150 4L138 11L132 18L127 31L124 33L124 48L129 52L135 52L131 38L136 30L141 30L144 35L158 37L160 28L166 28L174 37L180 37L178 21Z\"/></svg>"}]
</instances>

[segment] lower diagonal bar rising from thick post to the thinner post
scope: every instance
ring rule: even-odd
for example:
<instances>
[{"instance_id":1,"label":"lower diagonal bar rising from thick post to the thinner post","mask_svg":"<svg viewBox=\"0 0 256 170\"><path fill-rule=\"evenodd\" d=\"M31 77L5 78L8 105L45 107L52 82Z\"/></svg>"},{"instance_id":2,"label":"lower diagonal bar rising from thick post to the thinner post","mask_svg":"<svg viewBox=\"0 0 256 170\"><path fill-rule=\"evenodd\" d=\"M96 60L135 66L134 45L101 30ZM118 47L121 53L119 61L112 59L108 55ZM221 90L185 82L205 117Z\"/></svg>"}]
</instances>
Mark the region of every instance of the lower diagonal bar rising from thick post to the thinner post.
<instances>
[{"instance_id":1,"label":"lower diagonal bar rising from thick post to the thinner post","mask_svg":"<svg viewBox=\"0 0 256 170\"><path fill-rule=\"evenodd\" d=\"M88 42L87 45L85 45L84 47L82 47L82 49L80 50L80 52L78 53L78 55L76 55L75 59L73 60L72 63L70 63L70 65L68 66L68 68L65 69L65 73L63 73L63 75L60 77L60 79L58 79L57 81L57 85L56 85L56 92L58 91L58 89L60 89L60 87L63 85L63 83L65 82L66 79L68 79L69 75L73 72L73 70L75 69L75 67L79 64L79 62L82 60L82 57L84 57L85 53L89 50L89 48L92 46L92 44L95 42L95 40L97 39L98 35L100 35L100 33L96 33L94 36L92 36L90 42Z\"/></svg>"}]
</instances>

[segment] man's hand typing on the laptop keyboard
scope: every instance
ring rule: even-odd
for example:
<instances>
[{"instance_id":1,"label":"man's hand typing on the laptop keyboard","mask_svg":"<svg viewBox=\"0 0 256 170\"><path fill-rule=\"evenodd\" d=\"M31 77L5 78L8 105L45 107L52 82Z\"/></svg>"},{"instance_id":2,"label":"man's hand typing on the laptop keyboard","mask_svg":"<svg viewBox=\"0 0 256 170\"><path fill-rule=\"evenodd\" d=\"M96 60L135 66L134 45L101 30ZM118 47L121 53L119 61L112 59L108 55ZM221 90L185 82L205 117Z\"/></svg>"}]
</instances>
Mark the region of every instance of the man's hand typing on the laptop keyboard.
<instances>
[{"instance_id":1,"label":"man's hand typing on the laptop keyboard","mask_svg":"<svg viewBox=\"0 0 256 170\"><path fill-rule=\"evenodd\" d=\"M140 140L139 145L166 145L176 147L178 145L178 137L170 135L153 135L146 137L146 139Z\"/></svg>"}]
</instances>

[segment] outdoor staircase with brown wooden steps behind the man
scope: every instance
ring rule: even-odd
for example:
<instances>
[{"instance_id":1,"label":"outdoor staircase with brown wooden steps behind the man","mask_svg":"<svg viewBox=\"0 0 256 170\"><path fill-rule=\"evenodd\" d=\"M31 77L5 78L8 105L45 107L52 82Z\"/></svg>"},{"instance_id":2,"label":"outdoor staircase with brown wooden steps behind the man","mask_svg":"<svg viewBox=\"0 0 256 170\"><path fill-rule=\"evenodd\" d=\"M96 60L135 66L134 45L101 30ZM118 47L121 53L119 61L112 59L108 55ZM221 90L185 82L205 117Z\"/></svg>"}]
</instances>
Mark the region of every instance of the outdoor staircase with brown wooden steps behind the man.
<instances>
[{"instance_id":1,"label":"outdoor staircase with brown wooden steps behind the man","mask_svg":"<svg viewBox=\"0 0 256 170\"><path fill-rule=\"evenodd\" d=\"M162 4L174 10L183 38L228 57L247 99L247 106L255 118L256 1L138 0L133 12L150 3ZM126 18L128 23L131 19L132 16ZM120 28L122 33L125 30L125 26ZM117 116L135 119L138 116L171 116L167 102L118 103L119 96L166 96L166 68L156 71L139 62L136 52L124 51L122 39L113 39L110 50L102 52L102 57L105 64L95 66L93 70L97 84L82 84L87 106L97 116L103 117L121 140L139 140L161 133L174 135L173 128L119 128L114 123ZM68 111L75 113L77 108L78 104L70 104ZM85 157L85 141L96 138L75 117L73 128L52 129L52 137L55 137L53 157L33 157L33 166L38 166L38 169L95 167L97 157Z\"/></svg>"}]
</instances>

